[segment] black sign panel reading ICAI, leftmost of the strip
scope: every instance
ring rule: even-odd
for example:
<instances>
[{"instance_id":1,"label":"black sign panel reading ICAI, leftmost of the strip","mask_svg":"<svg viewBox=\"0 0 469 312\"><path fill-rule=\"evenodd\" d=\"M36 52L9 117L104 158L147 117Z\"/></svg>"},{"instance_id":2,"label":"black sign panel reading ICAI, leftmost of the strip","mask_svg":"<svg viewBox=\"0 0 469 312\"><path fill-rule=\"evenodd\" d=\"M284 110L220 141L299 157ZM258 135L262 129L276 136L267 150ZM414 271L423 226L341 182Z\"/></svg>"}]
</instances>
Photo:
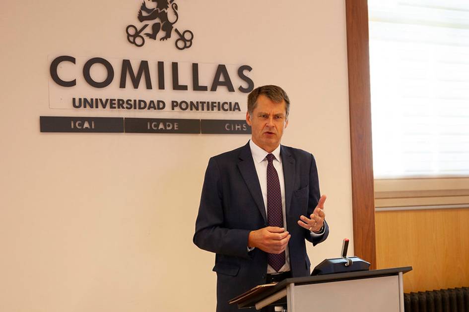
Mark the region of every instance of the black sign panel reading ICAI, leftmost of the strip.
<instances>
[{"instance_id":1,"label":"black sign panel reading ICAI, leftmost of the strip","mask_svg":"<svg viewBox=\"0 0 469 312\"><path fill-rule=\"evenodd\" d=\"M124 132L124 118L40 116L41 132Z\"/></svg>"}]
</instances>

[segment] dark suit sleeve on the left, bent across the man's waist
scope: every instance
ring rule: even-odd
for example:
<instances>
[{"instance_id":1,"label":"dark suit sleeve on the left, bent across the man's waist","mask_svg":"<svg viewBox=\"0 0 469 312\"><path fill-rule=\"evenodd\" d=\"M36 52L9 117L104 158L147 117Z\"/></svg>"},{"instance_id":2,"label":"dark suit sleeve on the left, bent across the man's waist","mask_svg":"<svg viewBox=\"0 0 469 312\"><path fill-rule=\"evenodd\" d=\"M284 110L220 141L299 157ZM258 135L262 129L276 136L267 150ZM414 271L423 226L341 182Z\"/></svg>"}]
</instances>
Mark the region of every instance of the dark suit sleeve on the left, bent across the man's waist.
<instances>
[{"instance_id":1,"label":"dark suit sleeve on the left, bent across the man's waist","mask_svg":"<svg viewBox=\"0 0 469 312\"><path fill-rule=\"evenodd\" d=\"M220 170L212 157L205 171L194 244L209 252L250 258L247 249L250 231L225 226Z\"/></svg>"}]
</instances>

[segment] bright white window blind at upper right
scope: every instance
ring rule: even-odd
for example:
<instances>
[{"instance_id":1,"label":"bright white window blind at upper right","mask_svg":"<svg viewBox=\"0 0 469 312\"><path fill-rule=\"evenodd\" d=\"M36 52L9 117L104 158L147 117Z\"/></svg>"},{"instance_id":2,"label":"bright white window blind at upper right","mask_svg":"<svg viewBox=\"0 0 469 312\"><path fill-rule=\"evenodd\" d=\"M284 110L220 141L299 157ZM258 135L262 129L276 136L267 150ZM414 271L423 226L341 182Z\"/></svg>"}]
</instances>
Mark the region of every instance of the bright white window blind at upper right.
<instances>
[{"instance_id":1,"label":"bright white window blind at upper right","mask_svg":"<svg viewBox=\"0 0 469 312\"><path fill-rule=\"evenodd\" d=\"M368 10L375 178L469 176L469 1Z\"/></svg>"}]
</instances>

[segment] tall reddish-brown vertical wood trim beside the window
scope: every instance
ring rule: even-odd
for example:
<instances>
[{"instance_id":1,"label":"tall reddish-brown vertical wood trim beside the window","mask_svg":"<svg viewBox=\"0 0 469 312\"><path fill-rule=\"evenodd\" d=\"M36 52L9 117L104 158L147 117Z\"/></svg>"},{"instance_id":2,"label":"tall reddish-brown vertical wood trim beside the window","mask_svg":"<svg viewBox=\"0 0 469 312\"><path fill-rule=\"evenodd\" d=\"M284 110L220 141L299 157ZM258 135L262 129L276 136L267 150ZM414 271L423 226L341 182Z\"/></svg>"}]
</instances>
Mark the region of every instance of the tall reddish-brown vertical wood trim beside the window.
<instances>
[{"instance_id":1,"label":"tall reddish-brown vertical wood trim beside the window","mask_svg":"<svg viewBox=\"0 0 469 312\"><path fill-rule=\"evenodd\" d=\"M352 173L353 246L356 256L376 265L375 207L371 147L368 4L345 1Z\"/></svg>"}]
</instances>

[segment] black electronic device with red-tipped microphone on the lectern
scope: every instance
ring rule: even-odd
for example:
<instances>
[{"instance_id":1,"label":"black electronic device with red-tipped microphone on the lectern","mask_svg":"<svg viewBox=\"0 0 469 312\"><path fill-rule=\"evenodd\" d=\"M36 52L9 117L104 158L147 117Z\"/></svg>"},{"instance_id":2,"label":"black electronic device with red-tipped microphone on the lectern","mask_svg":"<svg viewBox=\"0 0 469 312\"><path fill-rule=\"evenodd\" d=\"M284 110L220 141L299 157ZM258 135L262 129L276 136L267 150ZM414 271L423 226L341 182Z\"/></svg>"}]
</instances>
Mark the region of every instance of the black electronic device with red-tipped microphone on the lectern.
<instances>
[{"instance_id":1,"label":"black electronic device with red-tipped microphone on the lectern","mask_svg":"<svg viewBox=\"0 0 469 312\"><path fill-rule=\"evenodd\" d=\"M348 239L342 242L342 258L326 259L316 265L311 275L323 275L332 273L343 273L353 271L367 271L370 269L370 262L358 257L347 257Z\"/></svg>"}]
</instances>

